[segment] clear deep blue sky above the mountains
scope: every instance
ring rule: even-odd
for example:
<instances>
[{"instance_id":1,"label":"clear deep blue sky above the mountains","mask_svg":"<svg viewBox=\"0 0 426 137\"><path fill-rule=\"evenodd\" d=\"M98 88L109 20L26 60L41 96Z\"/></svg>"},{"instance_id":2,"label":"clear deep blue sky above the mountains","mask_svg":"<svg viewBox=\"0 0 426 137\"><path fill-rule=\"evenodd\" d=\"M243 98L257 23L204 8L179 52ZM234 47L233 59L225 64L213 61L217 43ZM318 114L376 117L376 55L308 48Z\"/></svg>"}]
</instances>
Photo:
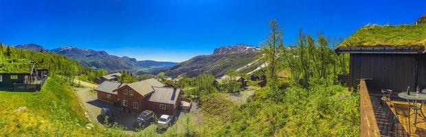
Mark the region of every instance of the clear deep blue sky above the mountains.
<instances>
[{"instance_id":1,"label":"clear deep blue sky above the mountains","mask_svg":"<svg viewBox=\"0 0 426 137\"><path fill-rule=\"evenodd\" d=\"M425 1L0 0L0 41L104 50L137 60L181 62L216 47L258 46L276 18L284 42L299 29L330 38L371 23L413 23Z\"/></svg>"}]
</instances>

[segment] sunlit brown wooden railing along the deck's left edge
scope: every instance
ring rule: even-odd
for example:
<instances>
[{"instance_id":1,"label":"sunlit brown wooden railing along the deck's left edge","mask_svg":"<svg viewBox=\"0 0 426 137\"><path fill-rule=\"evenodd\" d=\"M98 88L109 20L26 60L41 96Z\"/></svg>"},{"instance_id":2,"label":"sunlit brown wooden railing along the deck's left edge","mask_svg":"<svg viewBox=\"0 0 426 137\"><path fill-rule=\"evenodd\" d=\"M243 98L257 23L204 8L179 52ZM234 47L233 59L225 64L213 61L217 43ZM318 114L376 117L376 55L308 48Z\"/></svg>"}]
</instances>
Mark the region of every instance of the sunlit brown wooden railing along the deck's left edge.
<instances>
[{"instance_id":1,"label":"sunlit brown wooden railing along the deck's left edge","mask_svg":"<svg viewBox=\"0 0 426 137\"><path fill-rule=\"evenodd\" d=\"M365 79L361 79L359 82L359 94L361 100L361 136L380 136Z\"/></svg>"}]
</instances>

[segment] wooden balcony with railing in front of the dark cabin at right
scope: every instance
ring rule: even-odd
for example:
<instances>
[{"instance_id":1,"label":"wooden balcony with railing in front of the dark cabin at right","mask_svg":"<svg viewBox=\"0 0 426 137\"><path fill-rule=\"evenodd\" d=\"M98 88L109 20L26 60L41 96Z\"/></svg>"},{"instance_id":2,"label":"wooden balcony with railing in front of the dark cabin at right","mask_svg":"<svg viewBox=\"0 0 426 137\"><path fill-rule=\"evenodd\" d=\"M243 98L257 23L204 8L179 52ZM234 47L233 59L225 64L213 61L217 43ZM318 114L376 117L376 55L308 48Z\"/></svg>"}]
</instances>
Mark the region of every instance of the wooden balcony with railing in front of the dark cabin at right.
<instances>
[{"instance_id":1,"label":"wooden balcony with railing in front of the dark cabin at right","mask_svg":"<svg viewBox=\"0 0 426 137\"><path fill-rule=\"evenodd\" d=\"M392 104L410 104L407 100L398 97L398 92L393 92L391 101L383 103L380 90L369 90L368 82L361 79L360 109L361 109L361 136L409 136L408 126L411 125L410 136L426 136L426 119L418 112L416 126L413 124L414 110L410 110L410 123L406 117L396 116ZM420 103L416 105L421 106ZM426 107L421 108L426 112ZM394 119L396 118L396 119Z\"/></svg>"}]
</instances>

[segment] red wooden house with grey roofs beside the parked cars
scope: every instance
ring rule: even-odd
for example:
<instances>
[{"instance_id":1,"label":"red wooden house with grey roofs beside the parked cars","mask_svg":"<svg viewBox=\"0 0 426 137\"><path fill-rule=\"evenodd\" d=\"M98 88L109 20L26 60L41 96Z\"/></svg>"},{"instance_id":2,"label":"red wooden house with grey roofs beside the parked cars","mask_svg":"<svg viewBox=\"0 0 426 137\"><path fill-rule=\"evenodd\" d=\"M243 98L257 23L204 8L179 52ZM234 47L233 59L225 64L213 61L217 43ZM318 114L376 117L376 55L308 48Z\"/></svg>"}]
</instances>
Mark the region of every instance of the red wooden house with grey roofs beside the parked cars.
<instances>
[{"instance_id":1,"label":"red wooden house with grey roofs beside the parked cars","mask_svg":"<svg viewBox=\"0 0 426 137\"><path fill-rule=\"evenodd\" d=\"M164 84L156 79L131 84L105 81L96 91L98 99L115 103L124 112L136 114L144 110L153 110L159 114L176 114L180 108L182 94L180 88L164 87Z\"/></svg>"}]
</instances>

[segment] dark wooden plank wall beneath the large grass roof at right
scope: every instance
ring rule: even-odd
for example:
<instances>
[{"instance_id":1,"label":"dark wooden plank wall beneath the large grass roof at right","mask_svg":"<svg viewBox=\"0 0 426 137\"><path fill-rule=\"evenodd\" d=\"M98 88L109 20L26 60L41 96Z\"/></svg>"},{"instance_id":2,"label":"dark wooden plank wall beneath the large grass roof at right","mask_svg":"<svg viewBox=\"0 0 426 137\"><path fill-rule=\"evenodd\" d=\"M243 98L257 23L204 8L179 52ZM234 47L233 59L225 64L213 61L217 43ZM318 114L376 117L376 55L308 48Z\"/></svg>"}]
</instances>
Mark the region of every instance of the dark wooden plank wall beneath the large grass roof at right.
<instances>
[{"instance_id":1,"label":"dark wooden plank wall beneath the large grass roof at right","mask_svg":"<svg viewBox=\"0 0 426 137\"><path fill-rule=\"evenodd\" d=\"M419 63L421 64L421 63ZM423 59L426 76L426 56ZM351 54L350 86L357 87L359 79L372 79L368 82L370 89L389 88L404 91L407 86L414 89L416 55L414 54ZM421 75L418 75L421 79ZM423 80L426 84L426 79Z\"/></svg>"}]
</instances>

